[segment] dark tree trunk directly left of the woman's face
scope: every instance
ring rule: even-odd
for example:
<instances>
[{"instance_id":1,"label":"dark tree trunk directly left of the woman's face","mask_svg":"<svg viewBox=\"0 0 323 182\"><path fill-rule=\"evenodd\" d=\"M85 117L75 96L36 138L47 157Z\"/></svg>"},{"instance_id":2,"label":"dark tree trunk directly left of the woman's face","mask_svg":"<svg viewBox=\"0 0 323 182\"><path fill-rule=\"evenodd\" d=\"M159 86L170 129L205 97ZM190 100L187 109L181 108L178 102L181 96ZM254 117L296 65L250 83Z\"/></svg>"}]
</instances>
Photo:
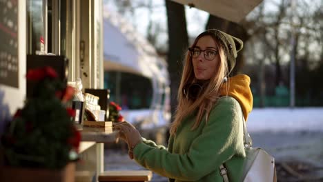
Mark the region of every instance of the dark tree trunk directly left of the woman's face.
<instances>
[{"instance_id":1,"label":"dark tree trunk directly left of the woman's face","mask_svg":"<svg viewBox=\"0 0 323 182\"><path fill-rule=\"evenodd\" d=\"M188 48L188 33L184 6L166 0L168 23L168 71L170 74L170 105L174 116L177 106L177 91L182 71L183 53Z\"/></svg>"}]
</instances>

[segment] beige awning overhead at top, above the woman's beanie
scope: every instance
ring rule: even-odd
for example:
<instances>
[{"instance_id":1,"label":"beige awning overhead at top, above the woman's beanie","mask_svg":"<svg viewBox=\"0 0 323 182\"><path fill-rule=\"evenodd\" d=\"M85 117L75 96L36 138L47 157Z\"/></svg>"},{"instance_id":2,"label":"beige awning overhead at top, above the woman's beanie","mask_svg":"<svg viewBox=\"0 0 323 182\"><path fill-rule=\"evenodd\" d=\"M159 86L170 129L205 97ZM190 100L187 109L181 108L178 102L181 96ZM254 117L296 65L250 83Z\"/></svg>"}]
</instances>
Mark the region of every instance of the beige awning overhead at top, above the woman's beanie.
<instances>
[{"instance_id":1,"label":"beige awning overhead at top, above the woman's beanie","mask_svg":"<svg viewBox=\"0 0 323 182\"><path fill-rule=\"evenodd\" d=\"M262 0L173 0L177 3L204 10L217 17L239 23Z\"/></svg>"}]
</instances>

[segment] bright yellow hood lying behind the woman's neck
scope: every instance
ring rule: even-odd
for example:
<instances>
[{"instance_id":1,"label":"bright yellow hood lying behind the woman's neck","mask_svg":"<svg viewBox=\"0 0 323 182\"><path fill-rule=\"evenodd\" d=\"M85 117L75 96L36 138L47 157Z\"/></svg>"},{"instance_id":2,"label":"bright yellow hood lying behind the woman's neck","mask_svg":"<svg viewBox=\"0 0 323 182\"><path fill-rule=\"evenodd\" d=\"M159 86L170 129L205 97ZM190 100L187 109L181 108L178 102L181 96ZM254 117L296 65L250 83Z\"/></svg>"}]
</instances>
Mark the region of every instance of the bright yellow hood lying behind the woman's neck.
<instances>
[{"instance_id":1,"label":"bright yellow hood lying behind the woman's neck","mask_svg":"<svg viewBox=\"0 0 323 182\"><path fill-rule=\"evenodd\" d=\"M223 83L220 90L220 96L228 95L240 103L246 121L249 112L253 110L253 94L249 85L250 78L246 74L237 74L235 77L228 78L228 82Z\"/></svg>"}]
</instances>

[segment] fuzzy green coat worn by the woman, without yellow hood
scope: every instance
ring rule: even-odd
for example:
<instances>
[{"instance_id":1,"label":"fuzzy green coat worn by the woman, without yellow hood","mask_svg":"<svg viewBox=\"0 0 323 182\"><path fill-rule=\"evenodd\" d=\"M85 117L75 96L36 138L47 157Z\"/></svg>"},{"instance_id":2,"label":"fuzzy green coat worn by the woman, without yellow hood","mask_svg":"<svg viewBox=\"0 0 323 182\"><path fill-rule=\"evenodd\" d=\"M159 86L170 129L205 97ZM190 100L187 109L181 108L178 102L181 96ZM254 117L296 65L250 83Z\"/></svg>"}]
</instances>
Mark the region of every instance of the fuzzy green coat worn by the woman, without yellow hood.
<instances>
[{"instance_id":1,"label":"fuzzy green coat worn by the woman, without yellow hood","mask_svg":"<svg viewBox=\"0 0 323 182\"><path fill-rule=\"evenodd\" d=\"M242 111L233 97L222 97L211 110L208 122L191 130L195 117L182 121L170 136L168 150L153 141L136 145L137 163L170 181L223 181L224 163L231 182L239 181L244 163Z\"/></svg>"}]
</instances>

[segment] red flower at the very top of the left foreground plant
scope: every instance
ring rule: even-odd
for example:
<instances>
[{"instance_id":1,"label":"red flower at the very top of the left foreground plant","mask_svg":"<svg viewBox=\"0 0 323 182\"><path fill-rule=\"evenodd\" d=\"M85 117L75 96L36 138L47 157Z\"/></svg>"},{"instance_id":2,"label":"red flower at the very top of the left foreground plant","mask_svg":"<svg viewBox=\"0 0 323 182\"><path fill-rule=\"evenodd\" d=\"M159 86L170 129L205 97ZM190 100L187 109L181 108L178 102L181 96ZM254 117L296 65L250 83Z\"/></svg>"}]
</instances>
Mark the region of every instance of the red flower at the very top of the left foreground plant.
<instances>
[{"instance_id":1,"label":"red flower at the very top of the left foreground plant","mask_svg":"<svg viewBox=\"0 0 323 182\"><path fill-rule=\"evenodd\" d=\"M39 81L45 77L50 77L52 79L57 78L57 72L49 66L43 68L37 68L33 70L28 70L26 78L32 81Z\"/></svg>"}]
</instances>

